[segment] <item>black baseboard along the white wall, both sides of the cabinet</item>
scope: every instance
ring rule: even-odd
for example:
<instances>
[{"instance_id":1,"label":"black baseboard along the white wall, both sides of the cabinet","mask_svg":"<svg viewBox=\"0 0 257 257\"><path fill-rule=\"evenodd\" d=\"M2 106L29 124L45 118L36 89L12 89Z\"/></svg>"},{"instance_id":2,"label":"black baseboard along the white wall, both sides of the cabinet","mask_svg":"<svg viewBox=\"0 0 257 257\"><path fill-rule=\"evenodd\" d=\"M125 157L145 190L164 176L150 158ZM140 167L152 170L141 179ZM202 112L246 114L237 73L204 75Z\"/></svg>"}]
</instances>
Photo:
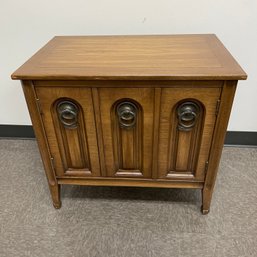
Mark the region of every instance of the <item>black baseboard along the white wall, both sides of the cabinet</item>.
<instances>
[{"instance_id":1,"label":"black baseboard along the white wall, both sides of the cabinet","mask_svg":"<svg viewBox=\"0 0 257 257\"><path fill-rule=\"evenodd\" d=\"M35 138L32 126L0 125L0 138ZM257 146L257 132L228 131L225 145Z\"/></svg>"}]
</instances>

